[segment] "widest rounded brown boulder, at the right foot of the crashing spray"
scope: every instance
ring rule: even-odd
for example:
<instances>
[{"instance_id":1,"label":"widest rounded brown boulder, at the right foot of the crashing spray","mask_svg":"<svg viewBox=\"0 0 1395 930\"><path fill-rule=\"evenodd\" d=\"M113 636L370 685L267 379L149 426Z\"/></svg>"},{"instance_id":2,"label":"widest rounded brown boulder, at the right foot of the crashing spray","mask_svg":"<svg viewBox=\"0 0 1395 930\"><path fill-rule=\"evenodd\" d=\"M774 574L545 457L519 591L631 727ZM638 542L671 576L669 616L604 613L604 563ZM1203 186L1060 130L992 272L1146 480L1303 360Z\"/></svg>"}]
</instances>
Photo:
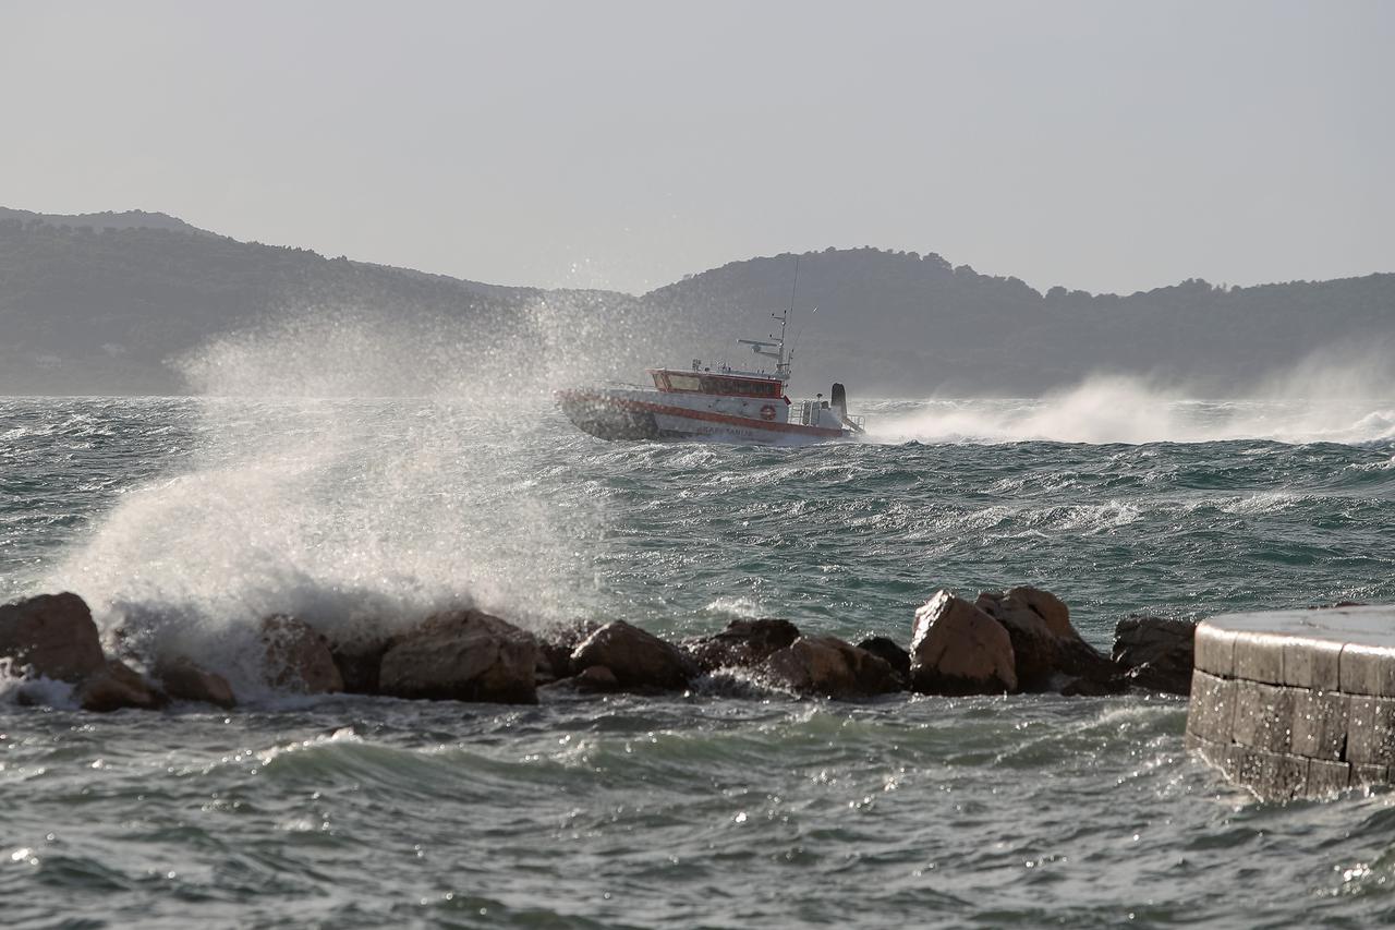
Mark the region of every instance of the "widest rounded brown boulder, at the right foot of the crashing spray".
<instances>
[{"instance_id":1,"label":"widest rounded brown boulder, at the right foot of the crashing spray","mask_svg":"<svg viewBox=\"0 0 1395 930\"><path fill-rule=\"evenodd\" d=\"M428 617L382 656L382 694L432 701L536 704L537 640L480 610Z\"/></svg>"}]
</instances>

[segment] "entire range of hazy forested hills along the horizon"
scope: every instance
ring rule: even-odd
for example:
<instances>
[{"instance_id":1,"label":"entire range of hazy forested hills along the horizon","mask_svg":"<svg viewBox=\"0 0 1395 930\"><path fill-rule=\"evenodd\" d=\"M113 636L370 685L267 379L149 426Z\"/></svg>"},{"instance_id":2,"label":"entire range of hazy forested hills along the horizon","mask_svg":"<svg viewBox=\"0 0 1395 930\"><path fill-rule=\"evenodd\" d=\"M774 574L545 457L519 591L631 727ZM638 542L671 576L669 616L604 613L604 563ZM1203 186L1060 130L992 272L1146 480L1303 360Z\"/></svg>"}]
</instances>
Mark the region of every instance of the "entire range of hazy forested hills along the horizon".
<instances>
[{"instance_id":1,"label":"entire range of hazy forested hills along the horizon","mask_svg":"<svg viewBox=\"0 0 1395 930\"><path fill-rule=\"evenodd\" d=\"M502 346L495 355L526 352L530 363L552 366L544 373L551 378L638 380L646 364L723 355L739 367L751 356L735 339L763 338L769 314L791 306L795 258L737 261L633 297L326 258L237 242L165 214L0 209L0 392L183 392L190 384L176 363L201 346L345 309L372 314L381 324L374 332L416 334L423 350L384 353L379 371L425 359L459 367L463 356L421 344L484 337ZM1392 337L1392 274L1256 288L1193 279L1127 296L1042 293L936 254L876 249L799 256L790 328L795 392L827 390L837 378L862 397L1036 394L1098 371L1232 394L1314 348ZM356 366L367 352L332 364ZM311 355L296 363L331 364ZM420 390L418 381L374 377L393 384L385 392Z\"/></svg>"}]
</instances>

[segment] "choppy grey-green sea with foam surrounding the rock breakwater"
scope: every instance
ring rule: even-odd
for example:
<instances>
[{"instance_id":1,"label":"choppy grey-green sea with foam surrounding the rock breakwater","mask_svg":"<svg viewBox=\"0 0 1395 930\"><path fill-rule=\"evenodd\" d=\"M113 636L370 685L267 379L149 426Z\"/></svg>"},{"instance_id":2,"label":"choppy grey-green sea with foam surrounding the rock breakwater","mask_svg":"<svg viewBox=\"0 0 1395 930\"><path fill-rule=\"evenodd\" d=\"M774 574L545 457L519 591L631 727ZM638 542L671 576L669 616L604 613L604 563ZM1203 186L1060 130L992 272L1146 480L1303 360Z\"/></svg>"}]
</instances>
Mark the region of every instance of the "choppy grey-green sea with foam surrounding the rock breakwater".
<instances>
[{"instance_id":1,"label":"choppy grey-green sea with foam surrounding the rock breakwater","mask_svg":"<svg viewBox=\"0 0 1395 930\"><path fill-rule=\"evenodd\" d=\"M0 399L0 599L75 589L251 704L0 697L4 922L1388 923L1389 796L1250 803L1179 700L292 700L244 647L453 596L904 641L940 586L1032 582L1105 648L1131 612L1395 600L1392 408L880 402L877 441L748 448L527 404Z\"/></svg>"}]
</instances>

